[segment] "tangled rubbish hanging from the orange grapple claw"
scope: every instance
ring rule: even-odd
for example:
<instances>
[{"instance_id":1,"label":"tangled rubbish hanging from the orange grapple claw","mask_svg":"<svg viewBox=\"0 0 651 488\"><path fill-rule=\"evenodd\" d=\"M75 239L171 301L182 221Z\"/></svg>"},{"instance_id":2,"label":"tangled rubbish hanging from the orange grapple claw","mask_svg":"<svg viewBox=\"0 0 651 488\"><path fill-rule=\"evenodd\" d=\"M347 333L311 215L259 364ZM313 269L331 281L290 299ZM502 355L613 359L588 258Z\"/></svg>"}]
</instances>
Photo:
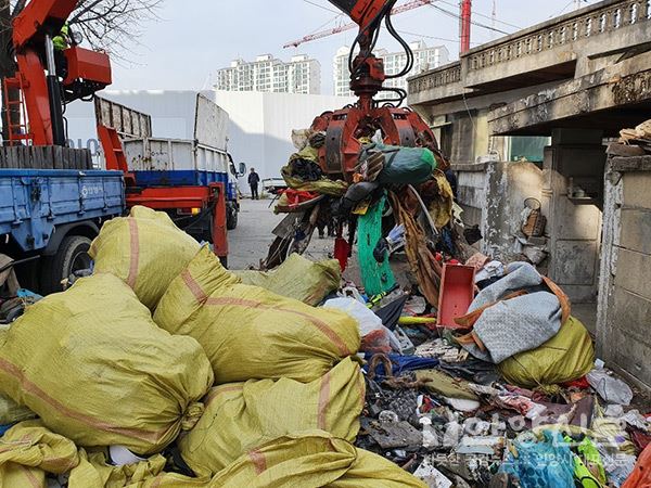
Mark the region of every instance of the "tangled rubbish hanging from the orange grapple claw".
<instances>
[{"instance_id":1,"label":"tangled rubbish hanging from the orange grapple claw","mask_svg":"<svg viewBox=\"0 0 651 488\"><path fill-rule=\"evenodd\" d=\"M297 152L281 169L288 190L275 207L286 216L273 230L276 240L261 268L273 269L292 254L303 254L317 230L321 237L328 230L342 271L357 243L367 293L395 287L388 258L405 249L418 285L436 301L442 272L437 253L454 256L469 247L456 226L462 210L454 203L456 181L441 152L386 145L379 132L366 134L359 138L358 166L335 176L323 169L324 132L294 131L292 139ZM430 246L432 242L437 245Z\"/></svg>"}]
</instances>

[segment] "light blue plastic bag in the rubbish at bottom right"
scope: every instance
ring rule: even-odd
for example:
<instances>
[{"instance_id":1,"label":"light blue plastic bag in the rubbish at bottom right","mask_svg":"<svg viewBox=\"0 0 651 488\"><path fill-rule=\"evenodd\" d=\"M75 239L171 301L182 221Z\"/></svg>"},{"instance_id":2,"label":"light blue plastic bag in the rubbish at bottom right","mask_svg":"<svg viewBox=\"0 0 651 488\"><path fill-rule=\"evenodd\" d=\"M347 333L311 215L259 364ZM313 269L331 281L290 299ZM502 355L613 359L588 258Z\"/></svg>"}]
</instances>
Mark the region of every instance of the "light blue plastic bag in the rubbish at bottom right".
<instances>
[{"instance_id":1,"label":"light blue plastic bag in the rubbish at bottom right","mask_svg":"<svg viewBox=\"0 0 651 488\"><path fill-rule=\"evenodd\" d=\"M537 440L525 434L515 440L518 457L509 453L500 471L520 479L522 488L574 488L570 445L556 431L542 431Z\"/></svg>"}]
</instances>

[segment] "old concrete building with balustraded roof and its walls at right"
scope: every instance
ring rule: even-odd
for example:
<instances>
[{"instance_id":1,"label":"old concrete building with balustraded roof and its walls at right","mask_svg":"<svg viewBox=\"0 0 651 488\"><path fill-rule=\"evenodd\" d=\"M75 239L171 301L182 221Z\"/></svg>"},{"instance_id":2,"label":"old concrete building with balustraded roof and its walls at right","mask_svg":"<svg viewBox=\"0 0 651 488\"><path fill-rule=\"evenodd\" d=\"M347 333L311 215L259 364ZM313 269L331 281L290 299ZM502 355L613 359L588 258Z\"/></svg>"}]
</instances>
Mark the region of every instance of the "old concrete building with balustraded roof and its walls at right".
<instances>
[{"instance_id":1,"label":"old concrete building with balustraded roof and its walls at right","mask_svg":"<svg viewBox=\"0 0 651 488\"><path fill-rule=\"evenodd\" d=\"M522 253L521 203L538 198L548 275L575 314L576 304L596 312L598 303L587 325L599 357L651 391L651 154L607 153L620 130L651 118L651 1L605 0L553 18L411 78L409 89L457 163L482 251ZM546 141L537 165L512 163L523 138Z\"/></svg>"}]
</instances>

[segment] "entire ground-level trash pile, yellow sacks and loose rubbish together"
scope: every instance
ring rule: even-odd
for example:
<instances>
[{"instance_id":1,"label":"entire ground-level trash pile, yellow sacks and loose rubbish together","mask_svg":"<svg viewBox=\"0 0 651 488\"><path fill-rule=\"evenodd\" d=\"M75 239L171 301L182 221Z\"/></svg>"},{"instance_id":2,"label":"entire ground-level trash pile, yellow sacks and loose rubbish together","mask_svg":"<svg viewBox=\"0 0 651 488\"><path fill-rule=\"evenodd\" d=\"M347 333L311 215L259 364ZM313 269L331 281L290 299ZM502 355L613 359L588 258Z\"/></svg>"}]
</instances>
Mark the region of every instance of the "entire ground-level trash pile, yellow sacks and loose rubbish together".
<instances>
[{"instance_id":1,"label":"entire ground-level trash pile, yellow sacks and loose rubbish together","mask_svg":"<svg viewBox=\"0 0 651 488\"><path fill-rule=\"evenodd\" d=\"M2 487L651 479L651 414L532 264L436 261L434 307L369 295L336 260L227 271L141 207L91 255L92 275L0 329Z\"/></svg>"}]
</instances>

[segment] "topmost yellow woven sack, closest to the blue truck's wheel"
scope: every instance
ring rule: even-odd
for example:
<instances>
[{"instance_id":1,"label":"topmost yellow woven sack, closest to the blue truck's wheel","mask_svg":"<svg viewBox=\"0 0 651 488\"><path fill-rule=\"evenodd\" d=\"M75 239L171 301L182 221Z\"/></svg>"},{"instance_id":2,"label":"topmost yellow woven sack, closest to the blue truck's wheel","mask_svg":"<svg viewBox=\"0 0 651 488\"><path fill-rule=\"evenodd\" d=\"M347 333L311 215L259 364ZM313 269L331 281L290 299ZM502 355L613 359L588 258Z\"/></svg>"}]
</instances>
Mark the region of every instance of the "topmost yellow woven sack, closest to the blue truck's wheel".
<instances>
[{"instance_id":1,"label":"topmost yellow woven sack, closest to the blue truck's wheel","mask_svg":"<svg viewBox=\"0 0 651 488\"><path fill-rule=\"evenodd\" d=\"M120 278L153 310L199 247L164 211L133 207L129 217L104 223L89 254L95 272Z\"/></svg>"}]
</instances>

